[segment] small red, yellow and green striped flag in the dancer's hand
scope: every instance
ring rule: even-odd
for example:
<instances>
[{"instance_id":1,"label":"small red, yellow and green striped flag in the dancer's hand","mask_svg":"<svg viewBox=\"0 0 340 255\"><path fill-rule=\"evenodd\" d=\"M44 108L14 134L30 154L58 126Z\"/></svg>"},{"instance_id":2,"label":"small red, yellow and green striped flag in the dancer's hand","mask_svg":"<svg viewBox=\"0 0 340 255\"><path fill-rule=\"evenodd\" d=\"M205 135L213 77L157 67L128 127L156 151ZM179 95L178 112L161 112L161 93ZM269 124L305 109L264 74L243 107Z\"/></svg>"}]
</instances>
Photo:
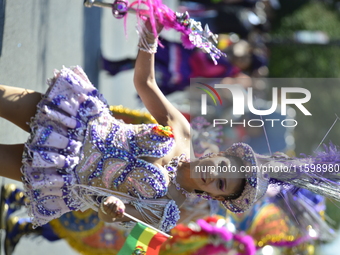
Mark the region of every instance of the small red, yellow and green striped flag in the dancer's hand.
<instances>
[{"instance_id":1,"label":"small red, yellow and green striped flag in the dancer's hand","mask_svg":"<svg viewBox=\"0 0 340 255\"><path fill-rule=\"evenodd\" d=\"M165 235L137 222L117 255L158 255L166 240Z\"/></svg>"}]
</instances>

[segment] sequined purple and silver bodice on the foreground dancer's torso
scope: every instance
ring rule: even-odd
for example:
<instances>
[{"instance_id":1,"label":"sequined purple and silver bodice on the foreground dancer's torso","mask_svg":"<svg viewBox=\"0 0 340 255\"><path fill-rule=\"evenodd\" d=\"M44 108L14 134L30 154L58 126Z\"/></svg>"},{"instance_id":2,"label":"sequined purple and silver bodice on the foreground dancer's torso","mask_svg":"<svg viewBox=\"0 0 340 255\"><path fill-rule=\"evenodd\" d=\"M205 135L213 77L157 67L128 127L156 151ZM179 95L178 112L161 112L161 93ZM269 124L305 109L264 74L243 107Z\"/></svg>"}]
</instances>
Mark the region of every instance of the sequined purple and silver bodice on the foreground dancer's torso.
<instances>
[{"instance_id":1,"label":"sequined purple and silver bodice on the foreground dancer's torso","mask_svg":"<svg viewBox=\"0 0 340 255\"><path fill-rule=\"evenodd\" d=\"M103 122L104 128L102 127ZM167 183L163 173L153 164L138 157L142 155L158 157L165 152L168 153L171 148L161 149L160 153L156 155L150 150L136 149L137 140L139 140L138 144L143 146L145 143L148 144L147 141L150 139L150 137L146 137L145 141L141 141L137 137L140 134L151 134L151 139L157 140L157 135L153 134L151 130L153 125L141 125L142 131L138 132L133 129L133 126L118 123L116 120L111 120L111 122L110 125L107 118L102 116L90 124L90 135L86 144L91 148L92 154L86 154L85 158L90 158L93 153L100 153L101 158L98 159L98 162L95 162L95 166L86 168L88 176L86 176L86 173L82 173L85 171L83 171L83 167L80 167L78 173L81 174L81 181L86 180L88 185L105 188L112 186L115 190L126 192L141 199L156 199L165 196ZM146 130L146 128L149 130ZM170 142L173 142L173 139ZM156 144L158 147L165 147L168 143L160 143L158 139ZM157 147L153 146L153 150L155 148ZM141 151L143 153L140 153ZM137 153L137 155L133 153ZM117 165L116 160L125 162L125 164ZM109 167L110 164L113 164L113 166ZM85 161L80 165L89 164Z\"/></svg>"}]
</instances>

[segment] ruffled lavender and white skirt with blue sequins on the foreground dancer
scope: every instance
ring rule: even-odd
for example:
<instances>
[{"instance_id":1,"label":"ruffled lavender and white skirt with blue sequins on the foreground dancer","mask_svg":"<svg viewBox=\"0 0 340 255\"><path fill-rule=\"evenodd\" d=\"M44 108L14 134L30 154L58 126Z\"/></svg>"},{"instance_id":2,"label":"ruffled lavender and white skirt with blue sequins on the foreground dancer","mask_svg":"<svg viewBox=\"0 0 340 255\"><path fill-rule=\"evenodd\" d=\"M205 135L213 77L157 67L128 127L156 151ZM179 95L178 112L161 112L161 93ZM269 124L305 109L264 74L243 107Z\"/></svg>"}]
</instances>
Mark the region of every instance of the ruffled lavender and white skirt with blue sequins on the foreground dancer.
<instances>
[{"instance_id":1,"label":"ruffled lavender and white skirt with blue sequins on the foreground dancer","mask_svg":"<svg viewBox=\"0 0 340 255\"><path fill-rule=\"evenodd\" d=\"M79 184L75 168L89 121L107 103L80 67L56 71L30 123L31 135L23 154L23 183L34 226L46 224L84 207L72 188Z\"/></svg>"}]
</instances>

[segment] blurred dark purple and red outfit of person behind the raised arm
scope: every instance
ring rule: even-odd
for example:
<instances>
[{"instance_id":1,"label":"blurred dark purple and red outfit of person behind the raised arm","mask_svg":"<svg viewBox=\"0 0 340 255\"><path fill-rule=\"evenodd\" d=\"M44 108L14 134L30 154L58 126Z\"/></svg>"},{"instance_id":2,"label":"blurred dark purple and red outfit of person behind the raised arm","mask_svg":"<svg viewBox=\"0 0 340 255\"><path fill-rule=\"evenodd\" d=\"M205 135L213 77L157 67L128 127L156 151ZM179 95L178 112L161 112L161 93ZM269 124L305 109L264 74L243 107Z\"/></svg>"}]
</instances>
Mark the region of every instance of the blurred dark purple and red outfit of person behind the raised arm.
<instances>
[{"instance_id":1,"label":"blurred dark purple and red outfit of person behind the raised arm","mask_svg":"<svg viewBox=\"0 0 340 255\"><path fill-rule=\"evenodd\" d=\"M155 72L157 83L165 95L184 90L190 85L190 78L235 77L240 69L232 65L228 58L220 58L218 65L207 54L200 50L184 49L181 43L161 39L164 47L159 47L155 56ZM134 59L111 61L101 57L104 70L110 75L134 67Z\"/></svg>"}]
</instances>

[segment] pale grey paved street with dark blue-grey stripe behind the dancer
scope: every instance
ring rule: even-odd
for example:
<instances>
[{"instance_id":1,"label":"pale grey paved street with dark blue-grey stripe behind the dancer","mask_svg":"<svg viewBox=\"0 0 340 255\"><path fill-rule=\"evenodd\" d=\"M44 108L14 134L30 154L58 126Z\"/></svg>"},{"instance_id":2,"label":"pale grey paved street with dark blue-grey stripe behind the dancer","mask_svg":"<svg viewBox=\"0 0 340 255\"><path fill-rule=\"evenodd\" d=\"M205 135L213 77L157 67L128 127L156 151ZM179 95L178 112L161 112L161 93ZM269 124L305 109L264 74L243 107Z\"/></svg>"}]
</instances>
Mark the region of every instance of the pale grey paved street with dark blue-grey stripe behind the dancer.
<instances>
[{"instance_id":1,"label":"pale grey paved street with dark blue-grey stripe behind the dancer","mask_svg":"<svg viewBox=\"0 0 340 255\"><path fill-rule=\"evenodd\" d=\"M4 14L1 84L43 92L53 69L62 65L81 65L110 104L136 106L133 103L136 100L133 100L132 72L111 78L98 70L101 48L109 58L135 56L137 37L133 18L128 22L132 29L129 29L127 41L121 20L115 20L110 10L84 8L82 0L11 0L6 2ZM23 143L26 139L27 133L0 120L1 143ZM1 182L13 181L1 178ZM24 211L19 215L27 216ZM50 255L78 254L64 241L50 243L39 237L22 238L13 255L39 255L47 251ZM4 254L3 249L1 254Z\"/></svg>"}]
</instances>

